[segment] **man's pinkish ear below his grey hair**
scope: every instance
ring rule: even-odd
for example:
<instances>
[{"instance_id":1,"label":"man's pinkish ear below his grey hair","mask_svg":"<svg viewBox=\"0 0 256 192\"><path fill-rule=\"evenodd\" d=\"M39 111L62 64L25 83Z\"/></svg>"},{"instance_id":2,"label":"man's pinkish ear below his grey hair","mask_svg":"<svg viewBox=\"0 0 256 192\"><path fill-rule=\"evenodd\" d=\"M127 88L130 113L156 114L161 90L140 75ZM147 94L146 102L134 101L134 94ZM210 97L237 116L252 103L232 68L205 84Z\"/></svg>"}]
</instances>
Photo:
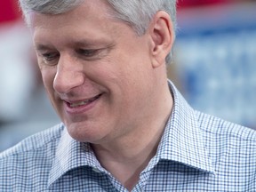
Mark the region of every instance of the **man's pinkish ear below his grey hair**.
<instances>
[{"instance_id":1,"label":"man's pinkish ear below his grey hair","mask_svg":"<svg viewBox=\"0 0 256 192\"><path fill-rule=\"evenodd\" d=\"M165 58L171 52L174 42L173 24L169 14L164 11L157 12L150 22L148 33L151 40L152 67L165 65Z\"/></svg>"}]
</instances>

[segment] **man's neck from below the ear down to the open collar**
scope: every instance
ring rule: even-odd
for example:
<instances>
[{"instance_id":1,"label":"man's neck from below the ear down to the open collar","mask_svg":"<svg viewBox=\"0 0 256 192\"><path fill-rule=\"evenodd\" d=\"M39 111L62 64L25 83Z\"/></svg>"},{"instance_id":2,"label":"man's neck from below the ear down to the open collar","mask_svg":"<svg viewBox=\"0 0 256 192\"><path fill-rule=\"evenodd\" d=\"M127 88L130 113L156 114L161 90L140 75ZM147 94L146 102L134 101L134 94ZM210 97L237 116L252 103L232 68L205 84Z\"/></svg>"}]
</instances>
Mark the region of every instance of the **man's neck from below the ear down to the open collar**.
<instances>
[{"instance_id":1,"label":"man's neck from below the ear down to the open collar","mask_svg":"<svg viewBox=\"0 0 256 192\"><path fill-rule=\"evenodd\" d=\"M162 84L163 86L163 84ZM164 97L153 104L155 113L132 128L132 132L104 144L93 144L92 148L100 164L111 172L125 188L132 189L140 179L162 138L164 127L172 111L172 95L169 89ZM145 123L147 122L147 123Z\"/></svg>"}]
</instances>

